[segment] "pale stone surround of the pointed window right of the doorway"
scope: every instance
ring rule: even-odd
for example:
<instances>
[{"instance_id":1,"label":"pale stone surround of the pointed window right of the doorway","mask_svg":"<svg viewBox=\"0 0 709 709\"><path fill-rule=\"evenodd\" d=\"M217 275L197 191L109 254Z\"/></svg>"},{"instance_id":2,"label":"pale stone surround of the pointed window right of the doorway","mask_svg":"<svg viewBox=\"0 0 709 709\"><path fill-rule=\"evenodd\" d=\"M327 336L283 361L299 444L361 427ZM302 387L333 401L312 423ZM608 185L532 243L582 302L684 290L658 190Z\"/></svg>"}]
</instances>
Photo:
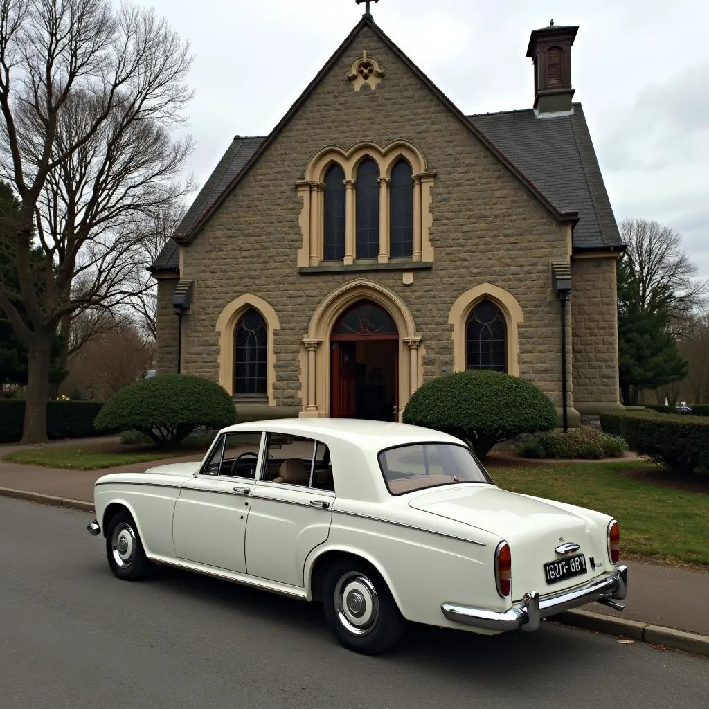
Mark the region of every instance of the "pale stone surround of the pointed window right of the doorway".
<instances>
[{"instance_id":1,"label":"pale stone surround of the pointed window right of the doorway","mask_svg":"<svg viewBox=\"0 0 709 709\"><path fill-rule=\"evenodd\" d=\"M520 376L520 344L518 325L525 321L517 298L509 291L491 283L482 283L458 296L448 315L448 324L453 326L453 371L466 369L466 325L472 309L482 300L488 299L500 308L507 325L507 372Z\"/></svg>"}]
</instances>

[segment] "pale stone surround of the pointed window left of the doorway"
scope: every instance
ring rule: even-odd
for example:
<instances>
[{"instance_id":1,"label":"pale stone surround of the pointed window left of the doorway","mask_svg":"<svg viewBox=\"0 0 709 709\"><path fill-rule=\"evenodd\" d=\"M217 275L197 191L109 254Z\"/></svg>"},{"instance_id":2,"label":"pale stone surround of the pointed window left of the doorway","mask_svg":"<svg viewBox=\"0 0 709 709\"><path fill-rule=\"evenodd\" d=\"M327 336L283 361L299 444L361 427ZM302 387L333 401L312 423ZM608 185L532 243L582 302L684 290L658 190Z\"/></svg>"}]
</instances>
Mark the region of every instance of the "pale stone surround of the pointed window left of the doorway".
<instances>
[{"instance_id":1,"label":"pale stone surround of the pointed window left of the doorway","mask_svg":"<svg viewBox=\"0 0 709 709\"><path fill-rule=\"evenodd\" d=\"M274 397L274 381L276 381L276 364L274 354L274 338L276 330L281 328L278 316L273 306L263 298L252 293L245 293L228 303L219 313L216 323L216 333L219 337L219 384L234 396L234 330L241 316L250 308L259 311L266 321L268 330L267 362L266 362L266 397L239 397L245 401L268 401L269 406L276 406Z\"/></svg>"}]
</instances>

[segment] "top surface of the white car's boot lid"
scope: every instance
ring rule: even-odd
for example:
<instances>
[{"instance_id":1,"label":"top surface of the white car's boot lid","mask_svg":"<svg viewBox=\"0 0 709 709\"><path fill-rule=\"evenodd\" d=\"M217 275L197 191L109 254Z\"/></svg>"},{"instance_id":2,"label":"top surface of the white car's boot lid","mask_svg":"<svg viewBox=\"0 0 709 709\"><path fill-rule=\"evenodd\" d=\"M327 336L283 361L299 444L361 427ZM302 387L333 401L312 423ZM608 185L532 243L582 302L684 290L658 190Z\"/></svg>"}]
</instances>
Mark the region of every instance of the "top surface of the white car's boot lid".
<instances>
[{"instance_id":1,"label":"top surface of the white car's boot lid","mask_svg":"<svg viewBox=\"0 0 709 709\"><path fill-rule=\"evenodd\" d=\"M446 486L422 493L409 506L498 535L512 542L529 534L586 531L588 520L549 501L535 500L496 486Z\"/></svg>"}]
</instances>

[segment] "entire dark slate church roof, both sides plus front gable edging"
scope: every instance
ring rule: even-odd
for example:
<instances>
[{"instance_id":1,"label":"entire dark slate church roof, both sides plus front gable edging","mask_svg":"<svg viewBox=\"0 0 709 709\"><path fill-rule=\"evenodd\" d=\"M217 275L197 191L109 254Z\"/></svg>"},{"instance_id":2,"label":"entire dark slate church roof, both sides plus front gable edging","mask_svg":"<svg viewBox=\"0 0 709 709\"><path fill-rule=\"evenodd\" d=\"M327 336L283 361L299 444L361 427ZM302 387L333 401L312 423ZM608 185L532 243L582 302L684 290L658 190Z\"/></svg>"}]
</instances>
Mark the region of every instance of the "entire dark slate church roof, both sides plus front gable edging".
<instances>
[{"instance_id":1,"label":"entire dark slate church roof, both sides plus front gable edging","mask_svg":"<svg viewBox=\"0 0 709 709\"><path fill-rule=\"evenodd\" d=\"M247 172L259 155L267 150L270 140L278 135L280 129L296 113L320 78L365 24L389 43L401 60L430 86L441 101L469 126L471 132L477 135L547 208L557 214L557 218L578 218L573 236L575 250L623 248L581 104L574 104L574 111L570 116L552 118L537 118L532 109L464 116L367 16L352 30L340 45L340 49L268 136L242 138L237 135L234 138L177 228L174 236L179 242L186 242L191 235L199 232L209 214L218 208L228 191L238 184L242 172ZM149 270L177 273L177 242L169 240Z\"/></svg>"}]
</instances>

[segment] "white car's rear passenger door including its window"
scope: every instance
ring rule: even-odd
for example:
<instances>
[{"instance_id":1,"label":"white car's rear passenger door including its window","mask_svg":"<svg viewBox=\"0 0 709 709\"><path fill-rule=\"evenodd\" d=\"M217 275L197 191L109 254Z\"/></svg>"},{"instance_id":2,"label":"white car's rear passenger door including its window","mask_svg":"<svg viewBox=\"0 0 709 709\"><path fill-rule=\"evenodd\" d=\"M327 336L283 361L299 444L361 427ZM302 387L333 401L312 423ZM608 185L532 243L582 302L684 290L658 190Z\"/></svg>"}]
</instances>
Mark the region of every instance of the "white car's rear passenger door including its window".
<instances>
[{"instance_id":1,"label":"white car's rear passenger door including its window","mask_svg":"<svg viewBox=\"0 0 709 709\"><path fill-rule=\"evenodd\" d=\"M330 533L335 489L327 446L268 433L246 525L250 576L302 587L308 554Z\"/></svg>"}]
</instances>

